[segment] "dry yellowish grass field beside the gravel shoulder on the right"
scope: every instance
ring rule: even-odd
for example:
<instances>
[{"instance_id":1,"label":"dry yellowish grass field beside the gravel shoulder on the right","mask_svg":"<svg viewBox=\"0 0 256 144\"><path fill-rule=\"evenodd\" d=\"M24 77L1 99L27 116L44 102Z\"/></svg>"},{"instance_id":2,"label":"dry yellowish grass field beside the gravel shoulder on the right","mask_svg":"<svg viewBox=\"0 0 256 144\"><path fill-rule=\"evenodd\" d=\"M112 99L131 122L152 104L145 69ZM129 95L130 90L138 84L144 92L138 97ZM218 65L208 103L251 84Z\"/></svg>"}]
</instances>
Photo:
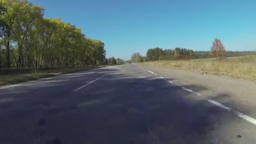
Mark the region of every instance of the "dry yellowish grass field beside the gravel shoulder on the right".
<instances>
[{"instance_id":1,"label":"dry yellowish grass field beside the gravel shoulder on the right","mask_svg":"<svg viewBox=\"0 0 256 144\"><path fill-rule=\"evenodd\" d=\"M233 57L225 59L193 59L177 61L149 61L144 64L160 67L197 70L203 73L229 75L256 80L256 56Z\"/></svg>"}]
</instances>

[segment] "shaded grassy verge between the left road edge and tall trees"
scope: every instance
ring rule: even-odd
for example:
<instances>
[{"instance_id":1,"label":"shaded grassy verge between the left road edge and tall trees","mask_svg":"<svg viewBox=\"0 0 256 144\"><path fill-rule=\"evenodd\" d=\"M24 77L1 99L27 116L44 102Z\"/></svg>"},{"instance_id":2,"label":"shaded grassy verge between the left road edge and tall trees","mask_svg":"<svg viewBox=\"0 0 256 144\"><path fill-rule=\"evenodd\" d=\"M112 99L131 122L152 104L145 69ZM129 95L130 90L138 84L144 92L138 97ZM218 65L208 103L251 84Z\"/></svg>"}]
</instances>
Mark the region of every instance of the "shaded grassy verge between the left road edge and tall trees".
<instances>
[{"instance_id":1,"label":"shaded grassy verge between the left road edge and tall trees","mask_svg":"<svg viewBox=\"0 0 256 144\"><path fill-rule=\"evenodd\" d=\"M0 86L35 80L43 77L79 72L104 66L93 67L59 67L43 69L0 69Z\"/></svg>"}]
</instances>

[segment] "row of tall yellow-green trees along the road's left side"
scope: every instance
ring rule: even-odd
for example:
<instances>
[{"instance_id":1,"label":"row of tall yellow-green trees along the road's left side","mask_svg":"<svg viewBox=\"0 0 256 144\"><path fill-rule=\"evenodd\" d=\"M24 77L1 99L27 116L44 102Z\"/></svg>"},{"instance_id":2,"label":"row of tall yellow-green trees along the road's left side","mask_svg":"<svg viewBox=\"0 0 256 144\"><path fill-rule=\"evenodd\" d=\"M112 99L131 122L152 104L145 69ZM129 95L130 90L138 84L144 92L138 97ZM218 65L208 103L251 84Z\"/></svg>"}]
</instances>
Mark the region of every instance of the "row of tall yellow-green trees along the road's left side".
<instances>
[{"instance_id":1,"label":"row of tall yellow-green trees along the road's left side","mask_svg":"<svg viewBox=\"0 0 256 144\"><path fill-rule=\"evenodd\" d=\"M27 0L0 1L0 68L95 65L106 62L104 43L59 18L45 18Z\"/></svg>"}]
</instances>

